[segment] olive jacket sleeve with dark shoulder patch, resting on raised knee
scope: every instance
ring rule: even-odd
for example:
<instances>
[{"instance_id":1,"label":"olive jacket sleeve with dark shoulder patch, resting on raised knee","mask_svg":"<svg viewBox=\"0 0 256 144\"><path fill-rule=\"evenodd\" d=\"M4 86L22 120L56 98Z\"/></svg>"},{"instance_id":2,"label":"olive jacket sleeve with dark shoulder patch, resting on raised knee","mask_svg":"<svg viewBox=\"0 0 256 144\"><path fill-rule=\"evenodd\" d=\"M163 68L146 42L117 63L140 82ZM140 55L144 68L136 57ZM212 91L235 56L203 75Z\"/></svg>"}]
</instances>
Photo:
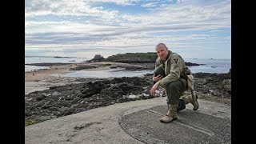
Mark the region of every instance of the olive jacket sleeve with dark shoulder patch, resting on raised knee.
<instances>
[{"instance_id":1,"label":"olive jacket sleeve with dark shoulder patch, resting on raised knee","mask_svg":"<svg viewBox=\"0 0 256 144\"><path fill-rule=\"evenodd\" d=\"M178 55L173 55L173 58L170 58L170 74L168 74L165 78L159 81L160 86L165 87L170 82L177 81L182 72L182 62L183 59Z\"/></svg>"}]
</instances>

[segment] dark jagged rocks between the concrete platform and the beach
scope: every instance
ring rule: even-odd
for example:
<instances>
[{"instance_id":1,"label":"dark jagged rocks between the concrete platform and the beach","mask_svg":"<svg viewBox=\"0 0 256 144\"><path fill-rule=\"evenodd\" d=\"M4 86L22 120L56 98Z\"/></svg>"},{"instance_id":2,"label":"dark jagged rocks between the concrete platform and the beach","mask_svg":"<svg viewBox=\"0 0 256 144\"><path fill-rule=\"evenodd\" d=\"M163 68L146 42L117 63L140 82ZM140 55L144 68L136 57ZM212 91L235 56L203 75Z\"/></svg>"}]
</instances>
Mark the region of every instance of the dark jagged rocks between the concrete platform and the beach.
<instances>
[{"instance_id":1,"label":"dark jagged rocks between the concrete platform and the beach","mask_svg":"<svg viewBox=\"0 0 256 144\"><path fill-rule=\"evenodd\" d=\"M198 98L231 104L231 73L196 73L194 77ZM26 126L114 103L154 98L150 95L152 74L131 78L79 78L76 81L79 83L25 94ZM161 96L160 88L157 97Z\"/></svg>"}]
</instances>

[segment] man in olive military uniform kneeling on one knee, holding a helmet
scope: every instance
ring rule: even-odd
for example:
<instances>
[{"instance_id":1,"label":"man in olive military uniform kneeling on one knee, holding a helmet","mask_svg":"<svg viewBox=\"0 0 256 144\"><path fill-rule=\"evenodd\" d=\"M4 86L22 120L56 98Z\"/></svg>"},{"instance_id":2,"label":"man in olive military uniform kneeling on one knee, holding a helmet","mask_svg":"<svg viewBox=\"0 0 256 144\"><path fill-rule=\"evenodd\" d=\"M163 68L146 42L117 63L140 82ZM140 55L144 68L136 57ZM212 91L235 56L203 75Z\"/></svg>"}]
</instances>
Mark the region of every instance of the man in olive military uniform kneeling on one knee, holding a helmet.
<instances>
[{"instance_id":1,"label":"man in olive military uniform kneeling on one knee, holding a helmet","mask_svg":"<svg viewBox=\"0 0 256 144\"><path fill-rule=\"evenodd\" d=\"M158 58L153 75L154 86L152 86L150 94L154 96L158 86L162 86L167 95L166 101L169 108L166 116L162 117L160 122L171 122L177 119L177 112L184 110L188 103L194 106L193 110L198 110L197 97L192 97L192 95L182 97L182 93L188 90L186 75L190 74L183 58L168 50L164 43L158 43L155 50Z\"/></svg>"}]
</instances>

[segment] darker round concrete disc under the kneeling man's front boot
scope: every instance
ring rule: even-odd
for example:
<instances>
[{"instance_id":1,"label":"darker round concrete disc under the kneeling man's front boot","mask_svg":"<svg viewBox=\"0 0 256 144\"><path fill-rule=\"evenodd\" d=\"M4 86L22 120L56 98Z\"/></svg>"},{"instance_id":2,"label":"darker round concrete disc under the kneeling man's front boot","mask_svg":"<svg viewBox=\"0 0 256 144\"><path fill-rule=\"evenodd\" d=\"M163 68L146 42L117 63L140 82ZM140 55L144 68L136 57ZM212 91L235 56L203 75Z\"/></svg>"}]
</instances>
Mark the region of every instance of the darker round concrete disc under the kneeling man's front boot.
<instances>
[{"instance_id":1,"label":"darker round concrete disc under the kneeling man's front boot","mask_svg":"<svg viewBox=\"0 0 256 144\"><path fill-rule=\"evenodd\" d=\"M154 106L122 116L119 123L130 136L145 143L231 143L228 118L186 109L173 122L159 122L166 111L167 106Z\"/></svg>"}]
</instances>

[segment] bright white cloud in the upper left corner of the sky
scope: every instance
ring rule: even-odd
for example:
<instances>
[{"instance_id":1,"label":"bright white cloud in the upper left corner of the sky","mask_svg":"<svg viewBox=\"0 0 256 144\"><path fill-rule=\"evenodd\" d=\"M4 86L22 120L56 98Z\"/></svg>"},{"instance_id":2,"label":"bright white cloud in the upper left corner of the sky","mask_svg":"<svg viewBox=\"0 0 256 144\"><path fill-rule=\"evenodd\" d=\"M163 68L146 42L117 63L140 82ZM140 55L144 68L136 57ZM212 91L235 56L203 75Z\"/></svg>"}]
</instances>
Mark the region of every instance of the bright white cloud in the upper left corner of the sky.
<instances>
[{"instance_id":1,"label":"bright white cloud in the upper left corner of the sky","mask_svg":"<svg viewBox=\"0 0 256 144\"><path fill-rule=\"evenodd\" d=\"M102 10L101 6L91 7L89 2L82 0L26 0L25 16L34 17L53 14L57 16L95 16L114 18L116 10Z\"/></svg>"}]
</instances>

